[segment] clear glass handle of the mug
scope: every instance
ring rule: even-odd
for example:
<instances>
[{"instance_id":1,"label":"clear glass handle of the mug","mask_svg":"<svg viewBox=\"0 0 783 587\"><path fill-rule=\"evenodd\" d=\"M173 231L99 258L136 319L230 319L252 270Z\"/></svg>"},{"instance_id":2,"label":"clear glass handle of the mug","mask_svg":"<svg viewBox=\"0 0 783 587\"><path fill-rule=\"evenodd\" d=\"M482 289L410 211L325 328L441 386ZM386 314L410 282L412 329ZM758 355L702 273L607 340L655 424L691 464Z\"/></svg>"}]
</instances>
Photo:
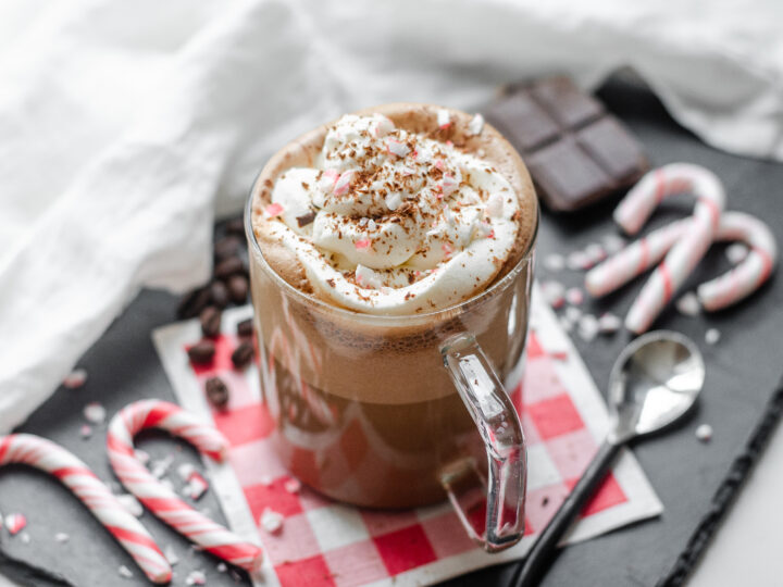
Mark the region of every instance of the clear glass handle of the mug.
<instances>
[{"instance_id":1,"label":"clear glass handle of the mug","mask_svg":"<svg viewBox=\"0 0 783 587\"><path fill-rule=\"evenodd\" d=\"M442 471L440 482L468 535L487 552L497 552L519 542L524 533L527 466L522 424L492 362L472 334L448 338L440 353L484 440L489 477L485 483L475 461L465 459ZM474 482L467 482L471 476ZM475 497L476 478L487 486L483 535L471 524L467 509L475 504L471 498Z\"/></svg>"}]
</instances>

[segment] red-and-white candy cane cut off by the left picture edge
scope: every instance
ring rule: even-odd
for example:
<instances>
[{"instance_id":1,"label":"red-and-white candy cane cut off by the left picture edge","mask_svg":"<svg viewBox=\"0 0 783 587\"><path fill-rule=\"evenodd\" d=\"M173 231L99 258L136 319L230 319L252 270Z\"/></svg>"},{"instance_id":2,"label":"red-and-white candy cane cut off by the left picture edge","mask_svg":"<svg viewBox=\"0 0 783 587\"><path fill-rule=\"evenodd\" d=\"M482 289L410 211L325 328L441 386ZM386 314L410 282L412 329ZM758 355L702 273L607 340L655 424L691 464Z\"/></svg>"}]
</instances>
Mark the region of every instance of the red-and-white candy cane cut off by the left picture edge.
<instances>
[{"instance_id":1,"label":"red-and-white candy cane cut off by the left picture edge","mask_svg":"<svg viewBox=\"0 0 783 587\"><path fill-rule=\"evenodd\" d=\"M39 436L11 434L0 437L0 465L11 463L27 464L55 476L87 505L151 582L171 580L169 561L152 537L82 460Z\"/></svg>"}]
</instances>

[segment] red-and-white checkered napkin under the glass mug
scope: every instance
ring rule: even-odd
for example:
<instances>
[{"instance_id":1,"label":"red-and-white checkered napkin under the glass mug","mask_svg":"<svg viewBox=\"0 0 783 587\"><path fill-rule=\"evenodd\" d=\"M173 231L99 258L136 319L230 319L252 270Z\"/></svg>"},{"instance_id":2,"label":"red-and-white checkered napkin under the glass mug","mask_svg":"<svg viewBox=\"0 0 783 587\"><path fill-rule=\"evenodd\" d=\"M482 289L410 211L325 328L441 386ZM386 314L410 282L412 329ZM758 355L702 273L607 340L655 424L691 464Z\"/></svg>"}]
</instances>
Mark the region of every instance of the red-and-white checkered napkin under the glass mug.
<instances>
[{"instance_id":1,"label":"red-and-white checkered napkin under the glass mug","mask_svg":"<svg viewBox=\"0 0 783 587\"><path fill-rule=\"evenodd\" d=\"M513 384L512 377L508 386L527 440L526 530L519 545L498 554L476 548L447 503L386 513L337 503L307 487L286 490L290 476L270 446L273 423L261 403L258 370L238 373L231 364L237 345L233 333L237 322L251 315L249 307L224 313L225 334L208 369L194 370L185 353L185 347L200 337L196 321L153 333L182 405L211 419L231 442L229 462L207 466L232 528L263 545L266 559L259 586L421 585L525 555L608 426L600 394L540 299L534 291L526 364L518 370L524 372L523 380ZM231 387L226 412L214 412L204 399L203 383L212 375ZM260 528L266 508L283 514L282 532ZM568 541L592 538L662 509L638 463L625 451Z\"/></svg>"}]
</instances>

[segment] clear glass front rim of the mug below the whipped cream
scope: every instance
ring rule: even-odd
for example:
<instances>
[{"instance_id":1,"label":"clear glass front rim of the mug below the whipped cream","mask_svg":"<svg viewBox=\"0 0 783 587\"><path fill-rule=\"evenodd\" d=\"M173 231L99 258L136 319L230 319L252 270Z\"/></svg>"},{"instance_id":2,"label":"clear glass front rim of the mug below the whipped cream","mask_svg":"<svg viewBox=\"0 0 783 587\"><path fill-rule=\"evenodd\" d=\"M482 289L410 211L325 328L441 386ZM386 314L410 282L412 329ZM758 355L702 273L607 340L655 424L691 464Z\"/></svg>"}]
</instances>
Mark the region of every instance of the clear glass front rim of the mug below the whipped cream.
<instances>
[{"instance_id":1,"label":"clear glass front rim of the mug below the whipped cream","mask_svg":"<svg viewBox=\"0 0 783 587\"><path fill-rule=\"evenodd\" d=\"M309 294L306 294L304 291L294 287L291 284L286 282L283 277L279 276L279 274L272 268L272 266L266 261L266 258L263 254L263 251L261 250L261 246L258 242L258 239L256 238L256 232L253 230L252 226L252 203L253 199L257 192L258 184L261 178L261 174L263 173L263 167L259 173L256 175L256 179L252 183L252 187L250 188L250 196L248 197L247 203L245 204L245 236L248 240L248 242L251 243L251 247L256 250L258 253L258 257L261 259L261 268L264 271L266 275L269 275L277 285L278 288L283 289L285 292L294 296L295 298L299 298L299 300L303 303L311 303L315 305L316 308L320 308L327 312L335 312L338 315L341 315L344 317L350 319L350 320L371 320L371 321L377 321L380 323L386 323L386 324L393 324L393 323L402 323L405 321L420 321L422 319L436 319L438 316L445 316L447 314L455 314L455 313L461 313L467 308L472 307L476 303L483 302L485 299L488 299L490 297L494 297L497 294L502 292L506 288L508 288L513 280L517 278L519 273L522 271L523 266L525 266L531 258L533 257L533 252L535 249L536 241L538 240L538 227L540 226L540 205L538 204L538 198L535 197L536 200L536 216L535 216L535 223L533 225L533 235L531 236L530 242L527 243L527 247L523 251L522 255L520 257L517 264L499 280L495 282L493 285L490 285L488 288L480 291L478 294L475 294L474 296L471 296L470 298L462 300L461 302L447 305L445 308L439 308L437 310L433 310L430 312L422 312L418 314L370 314L368 312L359 312L357 310L350 310L348 308L340 308L339 305L335 305L333 303L328 303L320 298L316 298L315 296L311 296ZM252 260L250 260L252 262ZM252 279L251 279L252 280Z\"/></svg>"}]
</instances>

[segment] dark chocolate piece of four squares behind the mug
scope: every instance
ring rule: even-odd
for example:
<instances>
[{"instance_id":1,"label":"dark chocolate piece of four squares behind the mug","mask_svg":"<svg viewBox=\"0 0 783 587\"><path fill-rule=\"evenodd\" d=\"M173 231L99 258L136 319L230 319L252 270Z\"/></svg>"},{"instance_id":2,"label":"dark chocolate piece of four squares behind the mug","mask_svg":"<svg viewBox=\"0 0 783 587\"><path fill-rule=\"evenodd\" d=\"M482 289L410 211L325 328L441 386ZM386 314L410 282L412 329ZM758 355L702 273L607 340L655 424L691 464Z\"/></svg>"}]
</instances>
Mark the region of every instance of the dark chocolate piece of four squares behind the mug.
<instances>
[{"instance_id":1,"label":"dark chocolate piece of four squares behind the mug","mask_svg":"<svg viewBox=\"0 0 783 587\"><path fill-rule=\"evenodd\" d=\"M538 197L555 211L629 188L649 167L622 123L568 77L515 88L485 116L520 151Z\"/></svg>"}]
</instances>

